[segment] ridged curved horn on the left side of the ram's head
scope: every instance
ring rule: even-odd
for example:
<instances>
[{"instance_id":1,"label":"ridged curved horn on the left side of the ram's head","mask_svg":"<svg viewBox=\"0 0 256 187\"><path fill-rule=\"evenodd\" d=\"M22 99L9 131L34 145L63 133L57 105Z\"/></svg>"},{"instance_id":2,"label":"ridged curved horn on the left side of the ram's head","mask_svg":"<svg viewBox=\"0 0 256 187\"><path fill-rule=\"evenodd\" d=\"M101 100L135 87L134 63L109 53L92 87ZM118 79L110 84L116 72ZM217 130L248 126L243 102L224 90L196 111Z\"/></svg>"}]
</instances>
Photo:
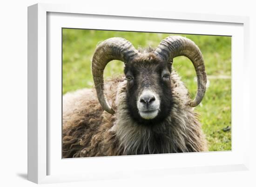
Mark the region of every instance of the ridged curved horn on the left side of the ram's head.
<instances>
[{"instance_id":1,"label":"ridged curved horn on the left side of the ram's head","mask_svg":"<svg viewBox=\"0 0 256 187\"><path fill-rule=\"evenodd\" d=\"M108 100L104 93L104 79L103 71L111 60L121 60L125 64L129 62L131 58L134 58L138 52L134 46L122 38L110 38L101 42L93 56L92 60L92 73L97 92L97 97L101 106L110 114L114 114L115 111L108 104Z\"/></svg>"}]
</instances>

